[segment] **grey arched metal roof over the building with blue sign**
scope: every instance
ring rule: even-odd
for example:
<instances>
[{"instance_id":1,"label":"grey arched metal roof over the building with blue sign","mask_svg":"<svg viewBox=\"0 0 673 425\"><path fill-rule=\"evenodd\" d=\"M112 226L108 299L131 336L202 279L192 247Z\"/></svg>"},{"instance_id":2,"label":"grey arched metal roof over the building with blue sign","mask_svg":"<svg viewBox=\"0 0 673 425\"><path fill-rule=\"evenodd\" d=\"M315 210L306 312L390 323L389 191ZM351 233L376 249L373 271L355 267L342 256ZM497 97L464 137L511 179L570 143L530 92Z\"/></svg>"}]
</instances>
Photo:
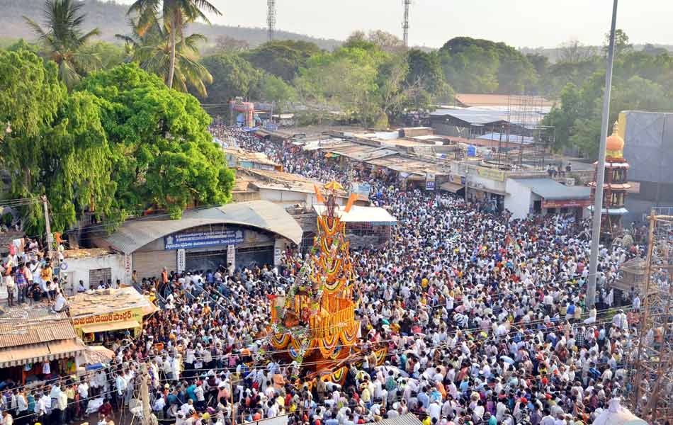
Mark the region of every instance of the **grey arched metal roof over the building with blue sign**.
<instances>
[{"instance_id":1,"label":"grey arched metal roof over the building with blue sign","mask_svg":"<svg viewBox=\"0 0 673 425\"><path fill-rule=\"evenodd\" d=\"M180 220L152 220L152 217L148 217L128 221L105 239L115 249L131 254L168 234L191 227L217 224L257 227L280 234L295 244L299 244L302 238L301 227L281 205L268 200L252 200L205 210L191 210L185 212Z\"/></svg>"}]
</instances>

